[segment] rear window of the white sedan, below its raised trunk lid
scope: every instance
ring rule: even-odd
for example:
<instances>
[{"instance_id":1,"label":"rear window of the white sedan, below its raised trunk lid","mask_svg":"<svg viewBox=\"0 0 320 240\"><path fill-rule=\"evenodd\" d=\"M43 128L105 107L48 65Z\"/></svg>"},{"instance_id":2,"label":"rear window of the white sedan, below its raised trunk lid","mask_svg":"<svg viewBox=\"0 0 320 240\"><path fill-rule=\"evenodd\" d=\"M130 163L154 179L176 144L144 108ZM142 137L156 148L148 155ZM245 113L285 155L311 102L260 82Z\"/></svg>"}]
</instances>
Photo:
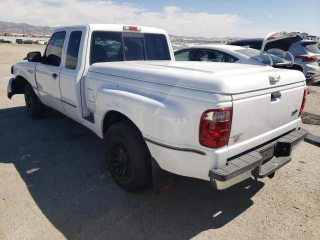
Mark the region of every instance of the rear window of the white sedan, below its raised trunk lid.
<instances>
[{"instance_id":1,"label":"rear window of the white sedan, below its raised trunk lid","mask_svg":"<svg viewBox=\"0 0 320 240\"><path fill-rule=\"evenodd\" d=\"M260 51L257 49L252 49L252 48L244 48L244 49L238 49L235 50L241 54L244 54L250 58L253 58L255 60L258 60L259 62L262 62L264 64L270 64L270 58L266 53L263 53L262 55L259 55ZM274 54L270 54L272 57L272 62L273 65L276 64L290 64L290 61L285 60L282 57L275 56Z\"/></svg>"}]
</instances>

